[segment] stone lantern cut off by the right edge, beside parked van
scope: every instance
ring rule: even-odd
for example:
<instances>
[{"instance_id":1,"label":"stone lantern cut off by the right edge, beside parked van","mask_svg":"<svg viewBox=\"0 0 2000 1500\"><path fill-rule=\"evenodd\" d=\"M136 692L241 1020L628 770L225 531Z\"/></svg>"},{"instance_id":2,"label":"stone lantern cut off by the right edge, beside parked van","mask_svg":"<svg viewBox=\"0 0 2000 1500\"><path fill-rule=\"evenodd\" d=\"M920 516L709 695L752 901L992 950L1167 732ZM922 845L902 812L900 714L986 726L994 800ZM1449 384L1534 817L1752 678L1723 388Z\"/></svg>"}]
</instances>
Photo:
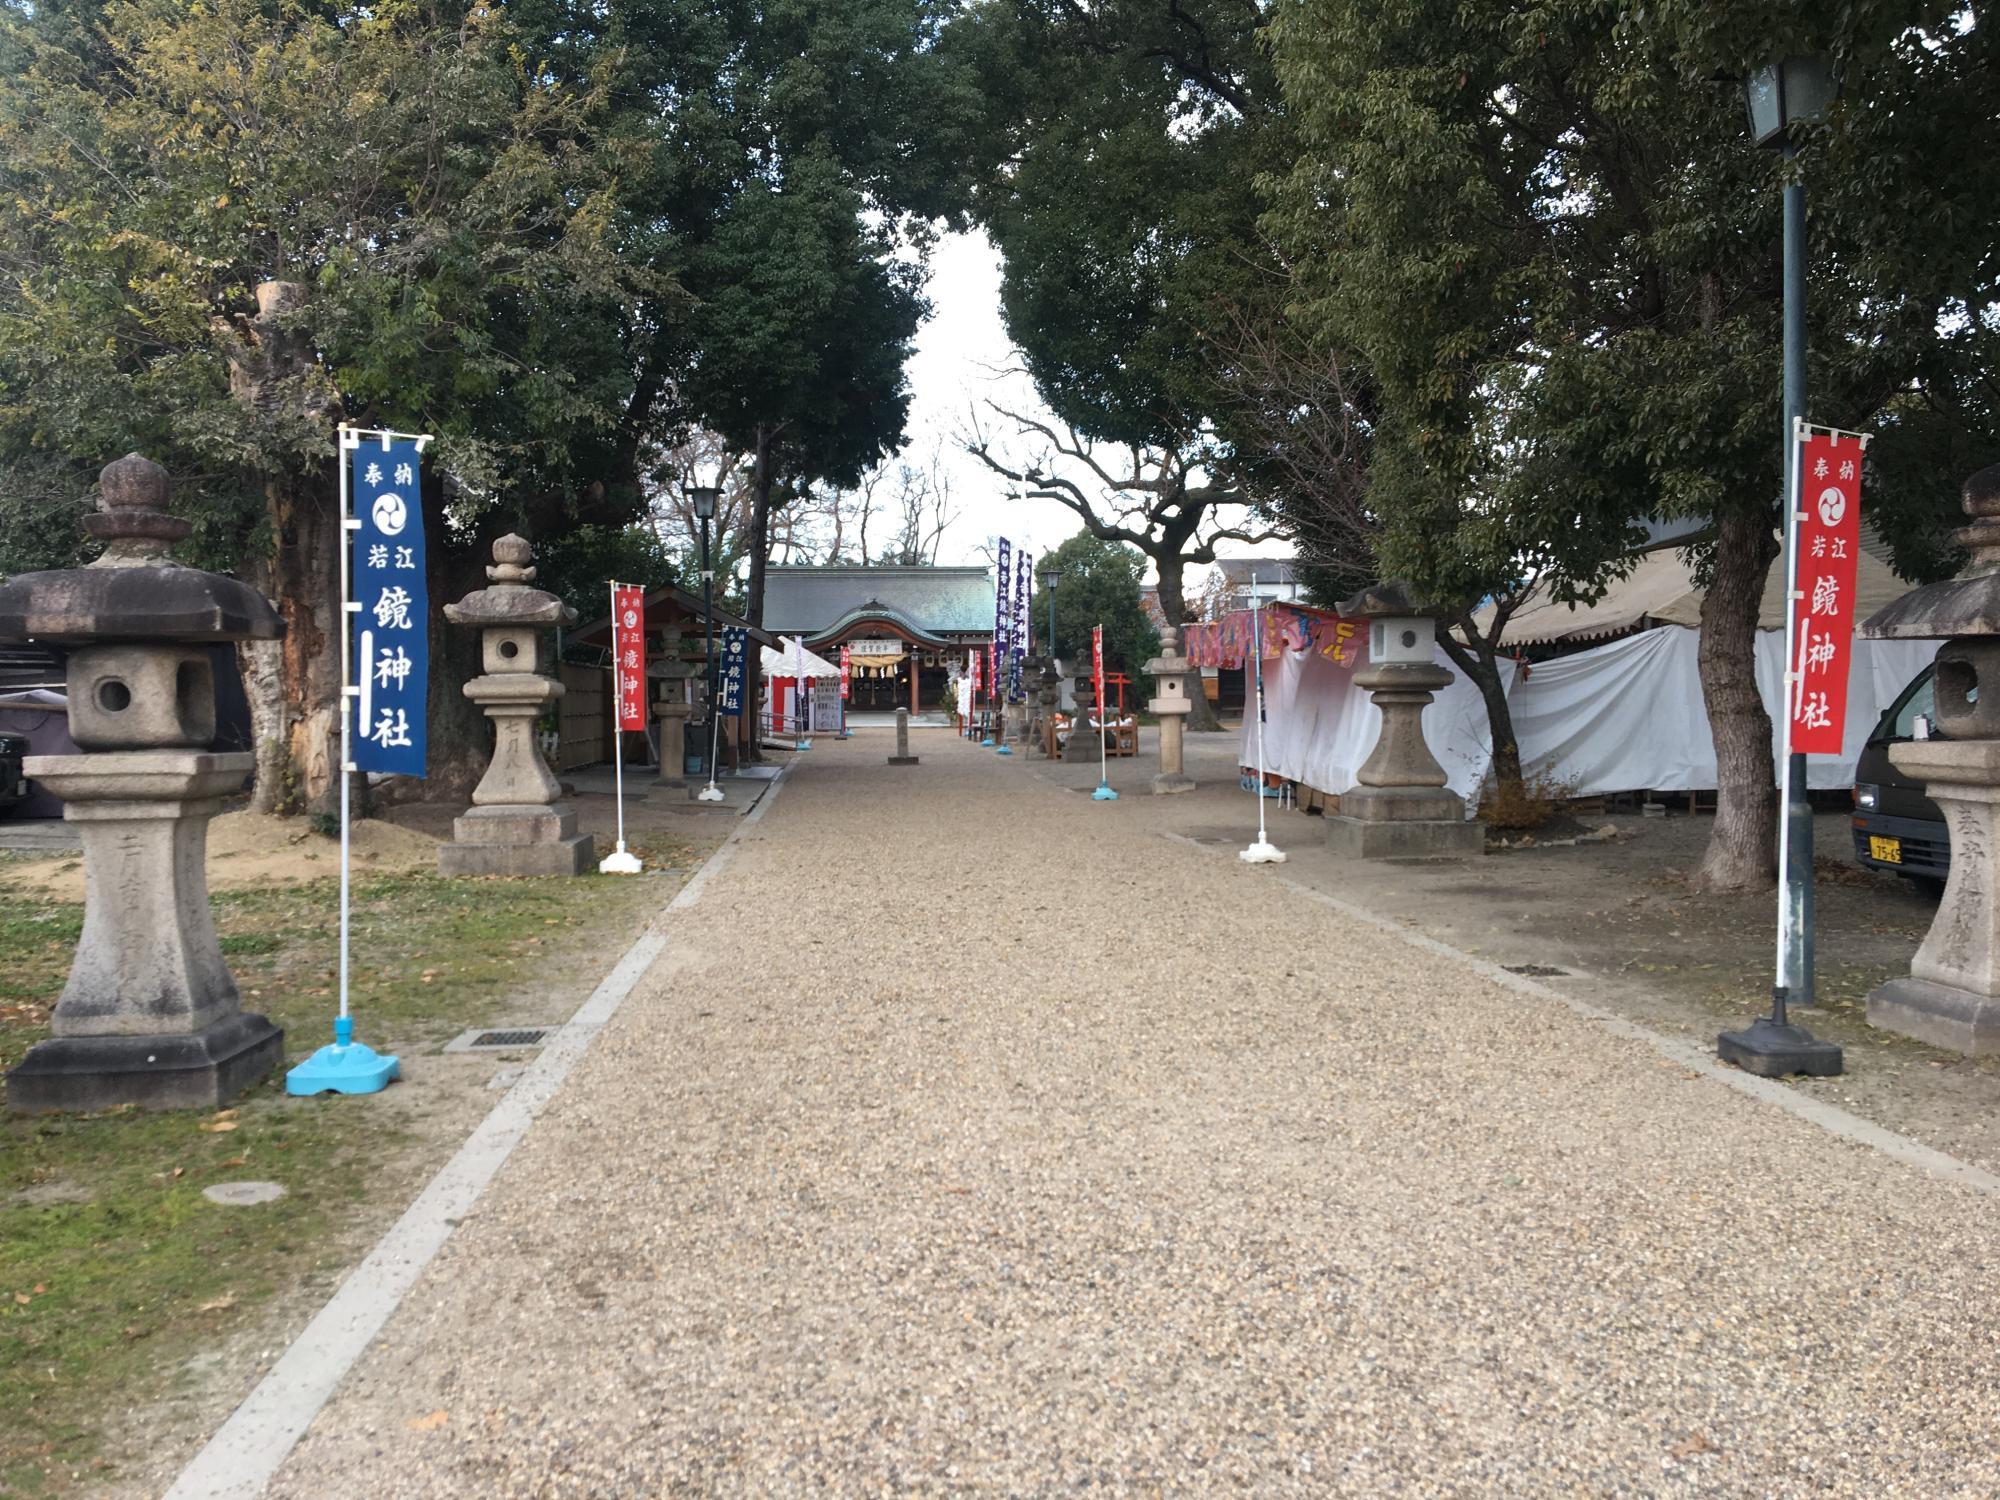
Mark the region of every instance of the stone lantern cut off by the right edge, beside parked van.
<instances>
[{"instance_id":1,"label":"stone lantern cut off by the right edge, beside parked van","mask_svg":"<svg viewBox=\"0 0 2000 1500\"><path fill-rule=\"evenodd\" d=\"M1908 978L1868 996L1868 1024L1956 1052L2000 1052L2000 464L1964 486L1966 570L1862 624L1864 640L1942 640L1936 734L1888 750L1944 812L1952 872ZM1992 682L1984 682L1992 678Z\"/></svg>"}]
</instances>

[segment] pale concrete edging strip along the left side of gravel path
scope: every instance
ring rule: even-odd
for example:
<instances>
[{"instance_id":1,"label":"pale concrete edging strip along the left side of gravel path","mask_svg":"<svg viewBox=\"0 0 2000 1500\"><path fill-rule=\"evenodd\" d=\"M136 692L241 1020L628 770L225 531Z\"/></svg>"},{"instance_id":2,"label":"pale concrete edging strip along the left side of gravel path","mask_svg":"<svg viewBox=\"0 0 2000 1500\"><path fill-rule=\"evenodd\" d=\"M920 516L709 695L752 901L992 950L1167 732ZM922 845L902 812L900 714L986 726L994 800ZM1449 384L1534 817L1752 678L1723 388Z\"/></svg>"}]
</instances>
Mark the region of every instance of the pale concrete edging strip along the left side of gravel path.
<instances>
[{"instance_id":1,"label":"pale concrete edging strip along the left side of gravel path","mask_svg":"<svg viewBox=\"0 0 2000 1500\"><path fill-rule=\"evenodd\" d=\"M542 1054L528 1064L514 1086L466 1136L466 1144L446 1162L438 1176L402 1212L368 1258L340 1284L340 1290L306 1324L292 1346L244 1396L242 1404L216 1430L208 1444L188 1462L164 1500L254 1500L270 1484L292 1448L312 1426L334 1388L360 1360L362 1350L390 1320L402 1298L416 1286L424 1266L444 1248L478 1200L494 1172L514 1152L542 1106L556 1094L576 1060L618 1014L652 960L666 948L658 922L684 912L702 898L708 882L728 864L730 854L778 796L780 774L758 804L722 840L722 846L702 862L694 878L666 904L660 918L626 950L624 958L604 976L590 998L576 1008L550 1038Z\"/></svg>"}]
</instances>

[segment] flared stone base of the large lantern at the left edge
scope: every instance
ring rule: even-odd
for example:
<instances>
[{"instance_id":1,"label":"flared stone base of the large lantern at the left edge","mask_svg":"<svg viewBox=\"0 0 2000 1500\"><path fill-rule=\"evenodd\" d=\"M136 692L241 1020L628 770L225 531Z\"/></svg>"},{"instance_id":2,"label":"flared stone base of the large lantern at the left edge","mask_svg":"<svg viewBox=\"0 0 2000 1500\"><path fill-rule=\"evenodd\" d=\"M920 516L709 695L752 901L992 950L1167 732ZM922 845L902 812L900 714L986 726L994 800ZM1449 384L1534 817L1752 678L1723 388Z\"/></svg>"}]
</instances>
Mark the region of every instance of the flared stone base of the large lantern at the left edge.
<instances>
[{"instance_id":1,"label":"flared stone base of the large lantern at the left edge","mask_svg":"<svg viewBox=\"0 0 2000 1500\"><path fill-rule=\"evenodd\" d=\"M208 912L208 820L248 754L32 756L84 842L84 932L54 1036L8 1074L14 1110L214 1110L284 1062L284 1032L240 1008Z\"/></svg>"}]
</instances>

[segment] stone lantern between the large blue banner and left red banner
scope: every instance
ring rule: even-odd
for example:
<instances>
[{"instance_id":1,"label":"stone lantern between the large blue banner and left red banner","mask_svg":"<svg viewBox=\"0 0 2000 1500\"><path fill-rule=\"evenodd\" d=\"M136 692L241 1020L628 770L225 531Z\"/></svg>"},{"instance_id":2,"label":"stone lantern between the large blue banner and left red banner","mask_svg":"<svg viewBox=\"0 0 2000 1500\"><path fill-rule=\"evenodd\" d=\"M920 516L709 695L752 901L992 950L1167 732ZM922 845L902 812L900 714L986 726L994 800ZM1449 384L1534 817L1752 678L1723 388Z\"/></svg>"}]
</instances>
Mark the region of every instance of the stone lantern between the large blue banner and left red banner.
<instances>
[{"instance_id":1,"label":"stone lantern between the large blue banner and left red banner","mask_svg":"<svg viewBox=\"0 0 2000 1500\"><path fill-rule=\"evenodd\" d=\"M452 822L452 842L438 846L438 872L448 876L582 874L596 840L576 832L576 810L556 802L556 782L534 742L534 722L562 698L562 684L536 666L542 632L576 624L576 610L534 582L534 548L518 536L494 542L492 588L444 606L452 624L480 632L484 674L466 684L466 698L494 722L494 758L472 788L472 808Z\"/></svg>"}]
</instances>

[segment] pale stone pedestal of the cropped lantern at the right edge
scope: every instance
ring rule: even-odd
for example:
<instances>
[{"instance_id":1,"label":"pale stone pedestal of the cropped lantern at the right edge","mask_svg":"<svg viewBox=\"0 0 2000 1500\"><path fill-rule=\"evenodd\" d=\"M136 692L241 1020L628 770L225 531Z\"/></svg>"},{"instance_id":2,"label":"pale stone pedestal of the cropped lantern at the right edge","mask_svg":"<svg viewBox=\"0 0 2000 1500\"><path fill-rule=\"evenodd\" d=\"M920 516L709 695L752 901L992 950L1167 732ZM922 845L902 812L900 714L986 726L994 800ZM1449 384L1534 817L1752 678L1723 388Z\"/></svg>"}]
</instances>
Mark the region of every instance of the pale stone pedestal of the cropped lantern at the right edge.
<instances>
[{"instance_id":1,"label":"pale stone pedestal of the cropped lantern at the right edge","mask_svg":"<svg viewBox=\"0 0 2000 1500\"><path fill-rule=\"evenodd\" d=\"M1910 740L1888 758L1944 812L1952 872L1910 974L1868 996L1868 1024L1954 1052L2000 1052L2000 740Z\"/></svg>"}]
</instances>

